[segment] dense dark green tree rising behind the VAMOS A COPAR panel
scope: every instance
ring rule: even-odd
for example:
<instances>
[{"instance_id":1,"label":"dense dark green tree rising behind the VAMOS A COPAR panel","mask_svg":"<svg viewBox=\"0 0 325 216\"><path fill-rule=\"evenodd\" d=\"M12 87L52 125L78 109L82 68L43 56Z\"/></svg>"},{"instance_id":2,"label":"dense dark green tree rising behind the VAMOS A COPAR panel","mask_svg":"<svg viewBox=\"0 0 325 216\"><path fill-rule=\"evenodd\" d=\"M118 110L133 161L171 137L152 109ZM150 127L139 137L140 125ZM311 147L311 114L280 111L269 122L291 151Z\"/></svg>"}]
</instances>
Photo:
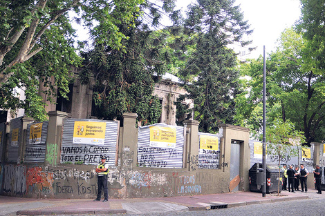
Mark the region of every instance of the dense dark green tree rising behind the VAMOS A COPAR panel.
<instances>
[{"instance_id":1,"label":"dense dark green tree rising behind the VAMOS A COPAR panel","mask_svg":"<svg viewBox=\"0 0 325 216\"><path fill-rule=\"evenodd\" d=\"M173 7L174 1L163 1L166 12L172 12ZM123 112L136 112L142 125L154 124L160 117L160 101L153 92L155 81L167 70L169 54L164 42L167 35L166 30L149 28L159 24L161 14L157 6L146 1L140 9L133 26L123 21L118 25L118 31L126 36L120 41L123 49L96 43L93 50L84 53L87 67L82 79L86 82L90 75L95 77L93 97L97 117L122 119ZM146 11L151 16L140 16Z\"/></svg>"}]
</instances>

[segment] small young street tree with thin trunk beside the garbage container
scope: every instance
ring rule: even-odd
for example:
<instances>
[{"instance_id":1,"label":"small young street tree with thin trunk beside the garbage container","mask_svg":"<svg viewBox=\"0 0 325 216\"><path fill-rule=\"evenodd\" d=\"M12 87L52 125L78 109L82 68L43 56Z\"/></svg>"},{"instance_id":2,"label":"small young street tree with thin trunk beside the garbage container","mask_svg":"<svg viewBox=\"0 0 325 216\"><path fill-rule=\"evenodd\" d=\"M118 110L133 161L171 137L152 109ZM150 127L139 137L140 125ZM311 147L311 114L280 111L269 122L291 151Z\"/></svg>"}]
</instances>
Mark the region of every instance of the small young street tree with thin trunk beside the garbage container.
<instances>
[{"instance_id":1,"label":"small young street tree with thin trunk beside the garbage container","mask_svg":"<svg viewBox=\"0 0 325 216\"><path fill-rule=\"evenodd\" d=\"M284 122L282 119L275 119L272 125L266 128L267 154L277 155L279 158L278 195L280 193L281 159L288 156L297 156L302 143L304 143L303 132L295 130L294 124L290 121Z\"/></svg>"}]
</instances>

